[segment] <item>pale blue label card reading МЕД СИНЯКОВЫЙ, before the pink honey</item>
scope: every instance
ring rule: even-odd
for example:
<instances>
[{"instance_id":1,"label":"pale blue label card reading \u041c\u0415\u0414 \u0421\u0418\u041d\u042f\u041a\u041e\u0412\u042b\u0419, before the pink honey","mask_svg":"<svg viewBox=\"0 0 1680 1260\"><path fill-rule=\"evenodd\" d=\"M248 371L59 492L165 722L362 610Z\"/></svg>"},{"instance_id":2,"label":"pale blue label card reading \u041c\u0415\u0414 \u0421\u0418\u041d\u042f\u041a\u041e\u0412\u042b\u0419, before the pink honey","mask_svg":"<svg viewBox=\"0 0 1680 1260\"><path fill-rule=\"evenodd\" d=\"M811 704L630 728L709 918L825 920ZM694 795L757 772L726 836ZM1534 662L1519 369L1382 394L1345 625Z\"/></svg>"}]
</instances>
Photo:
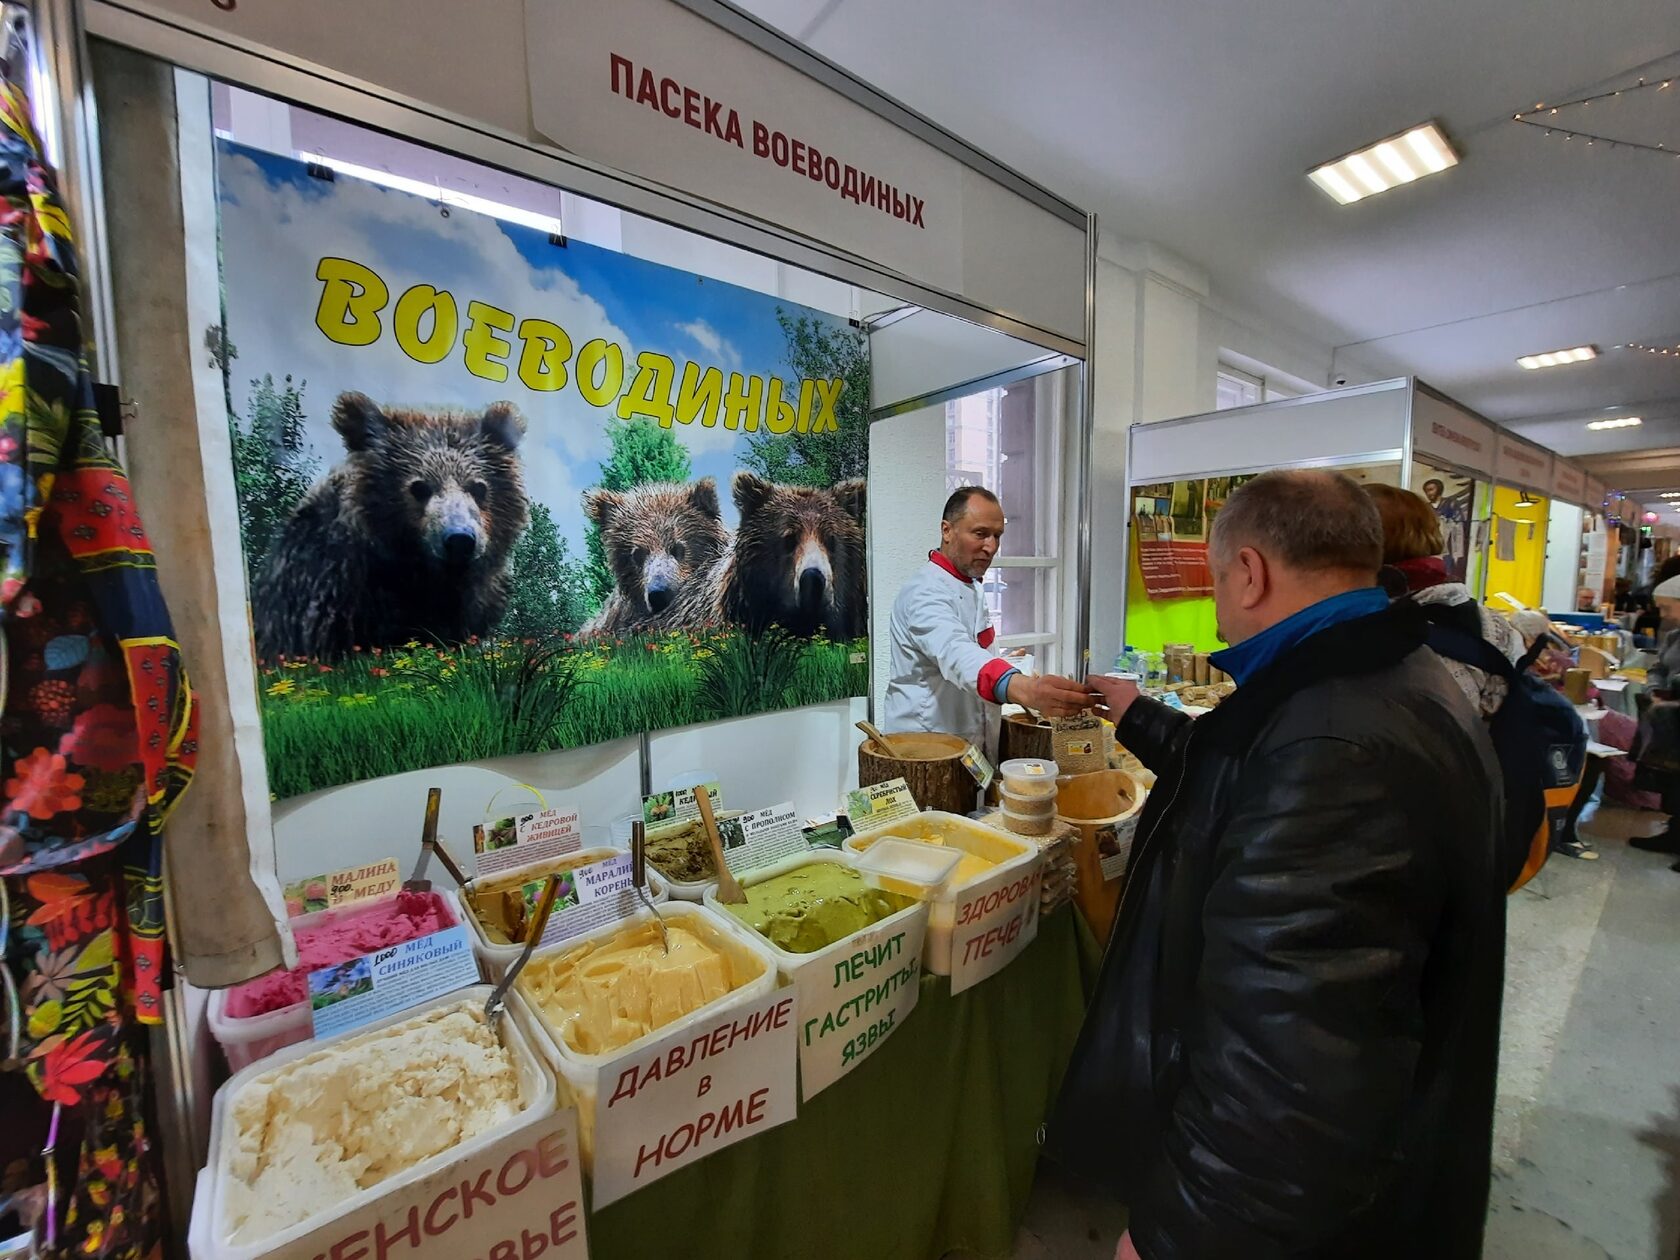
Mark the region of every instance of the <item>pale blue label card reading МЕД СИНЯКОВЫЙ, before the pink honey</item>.
<instances>
[{"instance_id":1,"label":"pale blue label card reading \u041c\u0415\u0414 \u0421\u0418\u041d\u042f\u041a\u041e\u0412\u042b\u0419, before the pink honey","mask_svg":"<svg viewBox=\"0 0 1680 1260\"><path fill-rule=\"evenodd\" d=\"M311 971L309 1018L316 1037L333 1037L477 983L467 929L445 927Z\"/></svg>"}]
</instances>

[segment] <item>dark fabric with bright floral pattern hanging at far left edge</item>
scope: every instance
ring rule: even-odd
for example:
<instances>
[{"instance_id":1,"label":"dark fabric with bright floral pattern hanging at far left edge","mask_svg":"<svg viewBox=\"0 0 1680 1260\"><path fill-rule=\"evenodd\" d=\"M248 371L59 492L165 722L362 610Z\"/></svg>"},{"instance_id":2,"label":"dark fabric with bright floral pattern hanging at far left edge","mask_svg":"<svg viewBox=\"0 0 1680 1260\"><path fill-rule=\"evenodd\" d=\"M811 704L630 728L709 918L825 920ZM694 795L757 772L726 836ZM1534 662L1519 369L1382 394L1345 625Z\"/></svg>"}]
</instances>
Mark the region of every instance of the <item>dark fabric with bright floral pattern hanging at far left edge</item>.
<instances>
[{"instance_id":1,"label":"dark fabric with bright floral pattern hanging at far left edge","mask_svg":"<svg viewBox=\"0 0 1680 1260\"><path fill-rule=\"evenodd\" d=\"M20 1058L81 1134L44 1257L160 1253L134 1020L161 1018L161 828L197 712L82 356L69 218L0 86L0 877ZM7 1063L12 1067L12 1063ZM60 1134L60 1142L64 1134ZM66 1147L59 1159L66 1161ZM39 1231L39 1230L37 1230Z\"/></svg>"}]
</instances>

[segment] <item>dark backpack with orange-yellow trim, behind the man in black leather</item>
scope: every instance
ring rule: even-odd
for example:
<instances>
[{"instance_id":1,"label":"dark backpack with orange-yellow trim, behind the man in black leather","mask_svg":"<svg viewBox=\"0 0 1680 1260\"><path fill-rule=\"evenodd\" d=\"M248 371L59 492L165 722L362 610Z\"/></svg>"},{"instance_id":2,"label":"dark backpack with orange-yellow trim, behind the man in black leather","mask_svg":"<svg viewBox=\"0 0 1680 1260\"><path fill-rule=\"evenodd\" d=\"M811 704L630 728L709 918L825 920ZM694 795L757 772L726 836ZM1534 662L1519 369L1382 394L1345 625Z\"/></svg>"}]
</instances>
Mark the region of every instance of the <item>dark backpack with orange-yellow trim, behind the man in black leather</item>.
<instances>
[{"instance_id":1,"label":"dark backpack with orange-yellow trim, behind the man in black leather","mask_svg":"<svg viewBox=\"0 0 1680 1260\"><path fill-rule=\"evenodd\" d=\"M1430 623L1426 642L1438 655L1505 680L1488 734L1505 781L1505 830L1495 864L1507 892L1515 892L1546 865L1552 840L1562 835L1586 766L1586 722L1562 692L1529 674L1546 650L1546 635L1517 664L1485 638L1438 622Z\"/></svg>"}]
</instances>

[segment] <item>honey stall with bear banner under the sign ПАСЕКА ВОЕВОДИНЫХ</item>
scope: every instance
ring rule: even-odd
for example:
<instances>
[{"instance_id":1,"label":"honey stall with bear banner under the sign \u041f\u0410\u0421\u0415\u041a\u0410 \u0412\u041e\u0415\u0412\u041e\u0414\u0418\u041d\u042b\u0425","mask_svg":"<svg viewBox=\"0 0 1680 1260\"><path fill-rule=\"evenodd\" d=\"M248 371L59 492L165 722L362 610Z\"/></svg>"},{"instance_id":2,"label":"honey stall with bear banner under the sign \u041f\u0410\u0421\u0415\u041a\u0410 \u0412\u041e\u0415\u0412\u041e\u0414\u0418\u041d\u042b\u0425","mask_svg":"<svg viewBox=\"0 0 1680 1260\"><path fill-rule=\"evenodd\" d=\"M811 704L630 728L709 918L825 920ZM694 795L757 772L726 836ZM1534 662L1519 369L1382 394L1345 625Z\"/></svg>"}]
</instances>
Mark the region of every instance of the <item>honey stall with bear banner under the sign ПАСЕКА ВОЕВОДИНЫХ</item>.
<instances>
[{"instance_id":1,"label":"honey stall with bear banner under the sign \u041f\u0410\u0421\u0415\u041a\u0410 \u0412\u041e\u0415\u0412\u041e\u0414\u0418\u041d\u042b\u0425","mask_svg":"<svg viewBox=\"0 0 1680 1260\"><path fill-rule=\"evenodd\" d=\"M722 3L304 8L92 0L39 32L101 370L193 610L171 1231L217 1257L638 1255L660 1230L785 1255L808 1188L870 1131L914 1149L914 1116L959 1174L828 1228L1001 1250L1092 963L1079 830L984 828L961 875L882 892L890 847L823 827L857 785L870 570L931 526L931 489L880 477L936 432L909 417L1033 400L1058 425L1035 475L1082 516L1092 222ZM386 533L311 534L353 517ZM754 576L756 529L808 571ZM393 583L375 558L403 539ZM685 808L712 783L706 855ZM415 869L422 816L444 852ZM724 875L774 899L810 872L862 919L791 948L774 907L721 902ZM633 1001L585 954L662 1013L603 1035L580 1013ZM460 1082L447 1116L427 1075ZM277 1169L306 1166L299 1194Z\"/></svg>"}]
</instances>

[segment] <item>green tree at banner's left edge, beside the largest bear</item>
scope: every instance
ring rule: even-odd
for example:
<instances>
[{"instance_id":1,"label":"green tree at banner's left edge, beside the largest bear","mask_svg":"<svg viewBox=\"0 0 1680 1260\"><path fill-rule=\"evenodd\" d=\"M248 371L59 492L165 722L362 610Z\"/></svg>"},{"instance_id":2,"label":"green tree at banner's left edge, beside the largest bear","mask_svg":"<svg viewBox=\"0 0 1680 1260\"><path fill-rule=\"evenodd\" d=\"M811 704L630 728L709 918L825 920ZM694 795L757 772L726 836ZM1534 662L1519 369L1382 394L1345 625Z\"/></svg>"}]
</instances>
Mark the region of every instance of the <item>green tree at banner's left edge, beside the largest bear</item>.
<instances>
[{"instance_id":1,"label":"green tree at banner's left edge, beside the largest bear","mask_svg":"<svg viewBox=\"0 0 1680 1260\"><path fill-rule=\"evenodd\" d=\"M294 385L291 376L281 385L267 375L252 381L244 422L228 410L239 528L252 576L262 571L269 548L319 472L304 422L304 383Z\"/></svg>"}]
</instances>

